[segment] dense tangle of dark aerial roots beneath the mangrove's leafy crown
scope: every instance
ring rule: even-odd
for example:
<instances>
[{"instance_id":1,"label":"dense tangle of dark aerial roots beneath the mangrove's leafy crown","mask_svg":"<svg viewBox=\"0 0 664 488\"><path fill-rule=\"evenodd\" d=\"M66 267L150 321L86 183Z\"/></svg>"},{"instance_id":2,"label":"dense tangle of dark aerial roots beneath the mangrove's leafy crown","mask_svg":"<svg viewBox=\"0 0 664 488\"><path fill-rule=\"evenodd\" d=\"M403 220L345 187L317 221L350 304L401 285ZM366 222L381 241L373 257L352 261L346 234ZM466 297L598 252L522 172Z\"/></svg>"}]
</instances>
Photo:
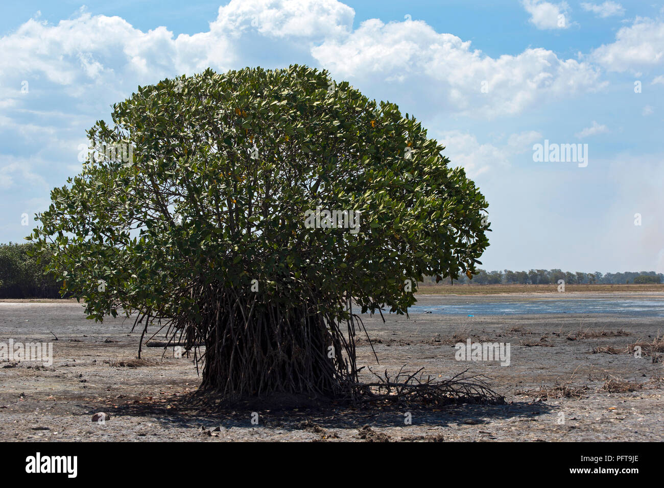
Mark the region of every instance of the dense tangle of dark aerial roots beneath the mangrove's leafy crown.
<instances>
[{"instance_id":1,"label":"dense tangle of dark aerial roots beneath the mangrove's leafy crown","mask_svg":"<svg viewBox=\"0 0 664 488\"><path fill-rule=\"evenodd\" d=\"M165 347L179 345L202 367L201 390L224 400L301 395L345 398L355 393L355 335L361 318L350 304L333 304L315 291L297 299L218 284L188 290L188 312L161 320L147 311L145 329L157 318ZM184 308L184 307L183 307ZM363 326L362 326L363 327ZM141 345L143 344L141 335ZM147 341L153 341L156 334ZM140 348L139 348L140 357Z\"/></svg>"}]
</instances>

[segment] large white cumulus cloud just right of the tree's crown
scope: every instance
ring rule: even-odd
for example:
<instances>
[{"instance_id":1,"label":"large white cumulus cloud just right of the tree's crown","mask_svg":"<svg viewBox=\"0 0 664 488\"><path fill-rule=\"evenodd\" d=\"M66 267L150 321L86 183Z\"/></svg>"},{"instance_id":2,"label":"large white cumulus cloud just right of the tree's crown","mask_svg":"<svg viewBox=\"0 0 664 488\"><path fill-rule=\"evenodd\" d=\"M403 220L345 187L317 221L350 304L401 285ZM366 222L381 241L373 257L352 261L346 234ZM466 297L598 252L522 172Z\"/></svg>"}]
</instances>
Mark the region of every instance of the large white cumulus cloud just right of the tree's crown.
<instances>
[{"instance_id":1,"label":"large white cumulus cloud just right of the tree's crown","mask_svg":"<svg viewBox=\"0 0 664 488\"><path fill-rule=\"evenodd\" d=\"M543 48L491 58L422 21L370 19L311 52L333 75L357 80L358 88L380 87L380 95L391 101L424 99L425 111L512 115L535 103L604 87L597 68L586 62L558 58Z\"/></svg>"}]
</instances>

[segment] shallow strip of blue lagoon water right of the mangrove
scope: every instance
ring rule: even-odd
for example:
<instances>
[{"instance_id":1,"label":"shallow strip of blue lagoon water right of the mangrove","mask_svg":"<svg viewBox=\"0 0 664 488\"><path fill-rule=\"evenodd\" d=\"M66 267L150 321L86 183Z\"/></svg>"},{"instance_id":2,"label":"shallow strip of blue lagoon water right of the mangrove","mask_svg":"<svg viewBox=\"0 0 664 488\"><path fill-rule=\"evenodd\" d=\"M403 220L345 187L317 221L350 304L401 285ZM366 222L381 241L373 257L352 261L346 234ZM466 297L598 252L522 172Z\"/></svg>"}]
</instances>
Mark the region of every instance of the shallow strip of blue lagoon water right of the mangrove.
<instances>
[{"instance_id":1,"label":"shallow strip of blue lagoon water right of the mangrove","mask_svg":"<svg viewBox=\"0 0 664 488\"><path fill-rule=\"evenodd\" d=\"M486 297L485 297L486 298ZM450 304L414 305L409 314L521 315L521 314L618 314L633 317L664 317L664 299L564 298L545 300L454 300Z\"/></svg>"}]
</instances>

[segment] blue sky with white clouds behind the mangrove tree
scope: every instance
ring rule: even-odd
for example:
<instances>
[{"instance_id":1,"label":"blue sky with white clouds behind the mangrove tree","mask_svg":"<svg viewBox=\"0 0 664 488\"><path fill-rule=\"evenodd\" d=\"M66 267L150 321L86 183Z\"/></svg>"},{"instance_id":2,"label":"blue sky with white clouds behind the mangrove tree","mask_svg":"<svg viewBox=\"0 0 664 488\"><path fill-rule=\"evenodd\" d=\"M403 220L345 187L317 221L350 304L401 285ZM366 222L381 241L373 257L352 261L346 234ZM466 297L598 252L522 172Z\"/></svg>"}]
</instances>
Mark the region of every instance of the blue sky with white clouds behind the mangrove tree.
<instances>
[{"instance_id":1,"label":"blue sky with white clouds behind the mangrove tree","mask_svg":"<svg viewBox=\"0 0 664 488\"><path fill-rule=\"evenodd\" d=\"M486 269L664 272L664 9L618 1L13 2L0 19L0 242L138 85L327 68L397 103L489 201ZM635 84L640 90L635 90ZM588 165L533 145L588 145ZM641 225L635 225L641 214Z\"/></svg>"}]
</instances>

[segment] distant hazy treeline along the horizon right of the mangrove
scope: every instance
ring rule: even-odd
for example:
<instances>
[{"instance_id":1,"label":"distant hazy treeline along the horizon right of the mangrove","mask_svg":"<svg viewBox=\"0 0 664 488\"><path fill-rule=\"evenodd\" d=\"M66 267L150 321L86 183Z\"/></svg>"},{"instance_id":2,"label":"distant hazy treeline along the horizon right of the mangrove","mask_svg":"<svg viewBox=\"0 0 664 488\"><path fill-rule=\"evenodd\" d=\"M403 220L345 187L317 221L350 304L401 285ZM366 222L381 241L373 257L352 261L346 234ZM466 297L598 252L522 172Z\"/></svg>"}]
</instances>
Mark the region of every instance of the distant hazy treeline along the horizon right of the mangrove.
<instances>
[{"instance_id":1,"label":"distant hazy treeline along the horizon right of the mangrove","mask_svg":"<svg viewBox=\"0 0 664 488\"><path fill-rule=\"evenodd\" d=\"M565 284L648 284L661 283L664 274L655 271L625 271L624 273L581 273L576 271L561 271L560 269L531 269L530 271L485 271L477 270L478 274L469 280L467 276L459 276L454 280L461 284L556 284L558 280L565 280ZM450 278L440 283L449 284ZM425 276L424 284L436 284L435 276Z\"/></svg>"}]
</instances>

